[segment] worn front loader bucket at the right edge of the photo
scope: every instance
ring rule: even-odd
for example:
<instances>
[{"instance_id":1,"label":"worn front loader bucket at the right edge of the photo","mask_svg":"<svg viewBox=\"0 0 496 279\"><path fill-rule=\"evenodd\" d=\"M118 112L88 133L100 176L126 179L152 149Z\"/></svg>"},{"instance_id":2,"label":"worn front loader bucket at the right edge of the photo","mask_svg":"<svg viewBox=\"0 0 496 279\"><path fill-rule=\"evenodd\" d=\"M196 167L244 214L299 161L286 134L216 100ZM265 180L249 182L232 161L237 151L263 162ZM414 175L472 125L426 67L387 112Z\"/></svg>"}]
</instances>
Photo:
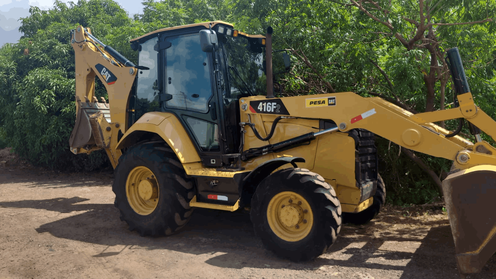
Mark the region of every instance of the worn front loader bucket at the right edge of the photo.
<instances>
[{"instance_id":1,"label":"worn front loader bucket at the right edge of the photo","mask_svg":"<svg viewBox=\"0 0 496 279\"><path fill-rule=\"evenodd\" d=\"M496 252L496 166L479 165L449 174L444 201L461 274L479 273Z\"/></svg>"}]
</instances>

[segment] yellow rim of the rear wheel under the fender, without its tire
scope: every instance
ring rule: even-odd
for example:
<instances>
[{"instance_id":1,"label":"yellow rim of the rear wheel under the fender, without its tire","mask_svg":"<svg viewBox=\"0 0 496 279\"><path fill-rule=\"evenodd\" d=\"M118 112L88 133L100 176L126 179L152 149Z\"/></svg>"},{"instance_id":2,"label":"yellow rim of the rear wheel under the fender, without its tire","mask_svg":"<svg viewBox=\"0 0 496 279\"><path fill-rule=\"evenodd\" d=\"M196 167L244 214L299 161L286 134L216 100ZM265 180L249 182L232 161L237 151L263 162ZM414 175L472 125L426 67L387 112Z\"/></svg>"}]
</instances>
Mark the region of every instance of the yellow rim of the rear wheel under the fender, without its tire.
<instances>
[{"instance_id":1,"label":"yellow rim of the rear wheel under the fender, without its tire","mask_svg":"<svg viewBox=\"0 0 496 279\"><path fill-rule=\"evenodd\" d=\"M148 215L158 205L158 182L153 172L144 166L133 168L127 175L125 193L134 212Z\"/></svg>"}]
</instances>

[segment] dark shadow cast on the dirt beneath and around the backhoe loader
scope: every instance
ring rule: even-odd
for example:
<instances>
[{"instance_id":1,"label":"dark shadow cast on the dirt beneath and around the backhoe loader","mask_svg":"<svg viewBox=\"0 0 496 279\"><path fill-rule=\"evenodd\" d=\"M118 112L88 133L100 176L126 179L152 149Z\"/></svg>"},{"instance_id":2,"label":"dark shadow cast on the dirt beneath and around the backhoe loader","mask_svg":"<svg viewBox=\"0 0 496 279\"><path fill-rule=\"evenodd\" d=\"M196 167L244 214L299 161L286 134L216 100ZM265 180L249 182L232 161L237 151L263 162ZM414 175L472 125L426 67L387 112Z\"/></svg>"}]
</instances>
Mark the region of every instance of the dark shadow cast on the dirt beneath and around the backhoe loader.
<instances>
[{"instance_id":1,"label":"dark shadow cast on the dirt beneath and around the backhoe loader","mask_svg":"<svg viewBox=\"0 0 496 279\"><path fill-rule=\"evenodd\" d=\"M88 199L73 197L50 200L25 200L16 202L1 202L0 208L33 208L57 212L84 211L53 222L45 223L36 228L38 233L48 232L51 235L100 244L105 246L124 245L128 249L169 249L193 255L215 254L220 256L210 258L206 263L225 268L244 267L273 268L293 270L317 270L322 266L340 266L350 268L366 268L368 270L401 271L401 279L413 278L458 278L454 258L454 244L449 225L433 223L431 228L400 230L399 234L386 235L380 238L361 229L374 228L385 230L392 223L374 222L365 226L344 224L340 236L326 254L317 259L294 263L277 258L267 251L255 235L247 212L228 212L211 209L195 209L191 220L178 234L168 237L141 237L127 229L127 224L119 219L119 210L112 204L79 204ZM429 223L429 222L426 222ZM359 232L359 233L356 233ZM422 233L425 237L413 237ZM420 242L415 252L398 252L384 250L385 242L402 243ZM356 243L366 244L361 248L352 247ZM105 252L95 257L118 255L120 252ZM348 255L345 260L336 259L336 253ZM349 256L351 255L351 256ZM377 259L382 258L384 263ZM257 261L253 261L257 259ZM374 260L375 259L375 260ZM391 264L391 261L409 260L406 265ZM452 267L445 269L441 267ZM419 273L419 270L422 271ZM446 270L449 270L447 272ZM496 256L490 259L483 272L471 275L470 279L493 278L496 276Z\"/></svg>"}]
</instances>

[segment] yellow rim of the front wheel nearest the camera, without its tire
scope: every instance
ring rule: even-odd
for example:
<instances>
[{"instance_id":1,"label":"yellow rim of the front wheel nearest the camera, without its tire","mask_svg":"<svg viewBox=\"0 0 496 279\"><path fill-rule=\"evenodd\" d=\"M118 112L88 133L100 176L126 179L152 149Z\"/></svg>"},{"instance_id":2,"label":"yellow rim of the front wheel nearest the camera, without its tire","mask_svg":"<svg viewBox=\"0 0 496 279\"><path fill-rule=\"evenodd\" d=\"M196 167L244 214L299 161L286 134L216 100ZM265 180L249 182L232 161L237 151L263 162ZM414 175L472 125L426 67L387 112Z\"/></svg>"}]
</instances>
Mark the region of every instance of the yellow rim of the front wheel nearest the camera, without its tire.
<instances>
[{"instance_id":1,"label":"yellow rim of the front wheel nearest the camera, without its tire","mask_svg":"<svg viewBox=\"0 0 496 279\"><path fill-rule=\"evenodd\" d=\"M267 220L278 237L294 242L304 239L310 233L313 212L303 196L295 192L281 192L270 200Z\"/></svg>"}]
</instances>

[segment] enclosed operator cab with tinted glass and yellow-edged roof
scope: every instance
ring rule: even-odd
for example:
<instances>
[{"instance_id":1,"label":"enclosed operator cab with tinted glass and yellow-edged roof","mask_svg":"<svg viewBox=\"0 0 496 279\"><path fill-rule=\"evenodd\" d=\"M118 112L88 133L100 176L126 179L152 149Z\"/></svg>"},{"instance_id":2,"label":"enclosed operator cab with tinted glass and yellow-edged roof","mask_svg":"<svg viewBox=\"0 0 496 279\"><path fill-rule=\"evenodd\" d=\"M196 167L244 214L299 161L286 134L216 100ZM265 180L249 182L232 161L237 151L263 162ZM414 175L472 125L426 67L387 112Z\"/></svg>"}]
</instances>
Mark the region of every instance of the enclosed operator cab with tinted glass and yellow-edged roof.
<instances>
[{"instance_id":1,"label":"enclosed operator cab with tinted glass and yellow-edged roof","mask_svg":"<svg viewBox=\"0 0 496 279\"><path fill-rule=\"evenodd\" d=\"M141 69L130 123L147 112L173 113L205 166L233 166L241 144L239 99L265 94L264 38L213 21L132 40Z\"/></svg>"}]
</instances>

